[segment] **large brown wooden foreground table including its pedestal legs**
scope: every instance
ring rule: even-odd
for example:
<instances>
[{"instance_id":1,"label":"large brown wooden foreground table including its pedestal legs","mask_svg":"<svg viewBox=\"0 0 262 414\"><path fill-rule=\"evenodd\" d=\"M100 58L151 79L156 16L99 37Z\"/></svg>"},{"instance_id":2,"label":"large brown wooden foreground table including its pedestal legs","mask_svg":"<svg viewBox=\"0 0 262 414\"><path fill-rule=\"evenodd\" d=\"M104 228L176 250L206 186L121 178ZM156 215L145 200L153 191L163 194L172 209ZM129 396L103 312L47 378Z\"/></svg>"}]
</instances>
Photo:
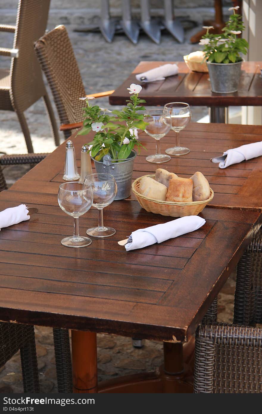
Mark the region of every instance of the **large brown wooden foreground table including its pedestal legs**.
<instances>
[{"instance_id":1,"label":"large brown wooden foreground table including its pedestal legs","mask_svg":"<svg viewBox=\"0 0 262 414\"><path fill-rule=\"evenodd\" d=\"M216 194L213 206L200 214L207 221L201 229L161 245L128 253L118 246L117 241L131 231L170 219L145 212L130 197L105 209L105 223L117 230L114 236L93 239L87 248L61 246L62 237L73 231L71 217L57 202L65 143L0 194L1 210L20 203L39 210L30 221L0 232L0 320L72 329L75 392L97 391L96 332L165 341L161 371L101 383L100 392L192 392L192 371L188 367L183 371L183 343L194 334L262 224L261 193L254 208L248 201L251 197L255 200L255 183L261 183L262 157L252 160L254 166L242 163L220 170L210 163L212 170L208 170L213 149L214 155L221 152L221 139L214 138L214 130L223 134L226 148L236 140L258 140L262 131L262 127L240 126L243 134L239 135L231 128L190 124L183 131L182 140L187 138L191 152L172 162L184 160L184 166L170 162L164 168L184 176L197 170L210 171ZM173 137L165 140L170 145ZM87 139L73 141L80 158ZM147 140L148 148L151 144ZM134 178L152 171L145 154L143 150L137 156ZM238 197L246 182L250 193ZM80 234L96 221L97 211L91 209L80 218Z\"/></svg>"}]
</instances>

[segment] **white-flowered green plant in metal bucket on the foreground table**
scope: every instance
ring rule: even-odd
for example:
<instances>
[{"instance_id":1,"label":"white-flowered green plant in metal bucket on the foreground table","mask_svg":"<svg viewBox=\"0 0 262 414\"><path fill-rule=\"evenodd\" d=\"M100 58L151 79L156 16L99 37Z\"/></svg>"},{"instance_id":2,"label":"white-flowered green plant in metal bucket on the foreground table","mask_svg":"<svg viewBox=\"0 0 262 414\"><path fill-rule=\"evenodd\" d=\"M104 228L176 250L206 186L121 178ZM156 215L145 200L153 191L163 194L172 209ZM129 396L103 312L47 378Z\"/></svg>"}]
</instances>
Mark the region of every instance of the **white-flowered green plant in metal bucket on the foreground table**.
<instances>
[{"instance_id":1,"label":"white-flowered green plant in metal bucket on the foreground table","mask_svg":"<svg viewBox=\"0 0 262 414\"><path fill-rule=\"evenodd\" d=\"M115 177L118 193L115 200L122 200L131 194L132 172L134 160L137 155L135 147L143 147L138 141L137 129L144 130L145 101L139 99L138 94L142 87L131 84L127 88L130 99L121 111L108 111L98 105L90 103L93 97L79 98L86 101L84 109L83 128L78 135L87 135L95 132L93 140L88 143L91 158L94 160L96 171L108 172Z\"/></svg>"}]
</instances>

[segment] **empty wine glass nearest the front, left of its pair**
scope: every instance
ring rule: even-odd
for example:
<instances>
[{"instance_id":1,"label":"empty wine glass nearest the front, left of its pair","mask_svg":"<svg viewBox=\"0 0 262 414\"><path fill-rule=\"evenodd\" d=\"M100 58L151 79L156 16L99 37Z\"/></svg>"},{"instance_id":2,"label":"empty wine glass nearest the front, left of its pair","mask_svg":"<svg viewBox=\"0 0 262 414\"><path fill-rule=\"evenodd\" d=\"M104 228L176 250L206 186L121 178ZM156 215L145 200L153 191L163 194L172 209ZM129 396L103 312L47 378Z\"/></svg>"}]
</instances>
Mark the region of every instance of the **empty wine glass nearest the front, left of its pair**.
<instances>
[{"instance_id":1,"label":"empty wine glass nearest the front, left of its pair","mask_svg":"<svg viewBox=\"0 0 262 414\"><path fill-rule=\"evenodd\" d=\"M79 216L86 213L92 205L93 193L91 186L84 189L79 181L63 183L59 186L58 204L61 209L74 217L74 235L61 240L63 246L84 247L92 243L89 237L79 236Z\"/></svg>"}]
</instances>

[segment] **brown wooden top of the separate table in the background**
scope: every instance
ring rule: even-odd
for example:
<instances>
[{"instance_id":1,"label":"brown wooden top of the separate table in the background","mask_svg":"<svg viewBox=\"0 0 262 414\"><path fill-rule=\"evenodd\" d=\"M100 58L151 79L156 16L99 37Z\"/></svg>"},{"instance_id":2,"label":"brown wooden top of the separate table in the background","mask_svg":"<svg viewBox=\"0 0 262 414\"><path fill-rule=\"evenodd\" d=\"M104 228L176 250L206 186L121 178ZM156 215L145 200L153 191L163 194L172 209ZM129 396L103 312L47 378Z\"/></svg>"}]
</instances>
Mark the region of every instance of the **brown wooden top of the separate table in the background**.
<instances>
[{"instance_id":1,"label":"brown wooden top of the separate table in the background","mask_svg":"<svg viewBox=\"0 0 262 414\"><path fill-rule=\"evenodd\" d=\"M177 63L178 75L169 76L163 81L144 83L137 81L135 75L164 65ZM211 91L208 73L191 72L184 62L142 61L130 76L109 96L111 105L125 105L130 96L127 88L135 83L142 85L140 99L147 105L165 105L168 102L187 102L192 106L248 106L261 105L262 62L243 62L238 92L216 94Z\"/></svg>"}]
</instances>

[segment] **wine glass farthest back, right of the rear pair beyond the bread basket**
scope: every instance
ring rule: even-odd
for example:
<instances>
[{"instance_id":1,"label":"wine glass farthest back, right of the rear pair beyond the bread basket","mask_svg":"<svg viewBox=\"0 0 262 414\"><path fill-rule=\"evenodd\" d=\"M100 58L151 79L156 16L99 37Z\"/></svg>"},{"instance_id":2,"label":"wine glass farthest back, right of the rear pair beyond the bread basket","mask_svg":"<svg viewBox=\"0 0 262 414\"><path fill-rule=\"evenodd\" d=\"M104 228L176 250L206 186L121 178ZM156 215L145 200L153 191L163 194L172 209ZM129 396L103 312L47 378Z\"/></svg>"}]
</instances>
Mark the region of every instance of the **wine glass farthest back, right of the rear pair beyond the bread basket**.
<instances>
[{"instance_id":1,"label":"wine glass farthest back, right of the rear pair beyond the bread basket","mask_svg":"<svg viewBox=\"0 0 262 414\"><path fill-rule=\"evenodd\" d=\"M166 154L169 155L185 155L190 152L186 147L180 147L179 132L183 130L190 121L191 111L188 103L185 102L170 102L166 103L164 109L168 110L171 115L171 129L175 131L176 145L175 147L166 149Z\"/></svg>"}]
</instances>

